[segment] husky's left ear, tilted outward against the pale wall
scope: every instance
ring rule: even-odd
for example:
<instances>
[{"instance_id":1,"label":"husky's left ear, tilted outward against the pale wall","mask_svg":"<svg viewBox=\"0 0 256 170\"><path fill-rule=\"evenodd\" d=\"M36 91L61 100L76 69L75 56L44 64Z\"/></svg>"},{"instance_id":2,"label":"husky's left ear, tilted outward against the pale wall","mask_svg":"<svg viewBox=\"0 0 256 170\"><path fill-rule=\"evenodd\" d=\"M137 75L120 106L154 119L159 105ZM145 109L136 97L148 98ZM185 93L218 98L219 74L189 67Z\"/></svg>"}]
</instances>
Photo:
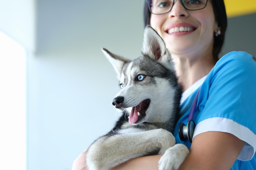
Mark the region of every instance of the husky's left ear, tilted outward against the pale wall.
<instances>
[{"instance_id":1,"label":"husky's left ear, tilted outward against the pale wall","mask_svg":"<svg viewBox=\"0 0 256 170\"><path fill-rule=\"evenodd\" d=\"M115 71L117 72L118 78L120 78L121 70L124 64L130 62L131 60L118 56L116 54L113 54L112 52L108 51L106 48L102 48L101 50L107 57L108 61L110 61L110 63L114 67Z\"/></svg>"}]
</instances>

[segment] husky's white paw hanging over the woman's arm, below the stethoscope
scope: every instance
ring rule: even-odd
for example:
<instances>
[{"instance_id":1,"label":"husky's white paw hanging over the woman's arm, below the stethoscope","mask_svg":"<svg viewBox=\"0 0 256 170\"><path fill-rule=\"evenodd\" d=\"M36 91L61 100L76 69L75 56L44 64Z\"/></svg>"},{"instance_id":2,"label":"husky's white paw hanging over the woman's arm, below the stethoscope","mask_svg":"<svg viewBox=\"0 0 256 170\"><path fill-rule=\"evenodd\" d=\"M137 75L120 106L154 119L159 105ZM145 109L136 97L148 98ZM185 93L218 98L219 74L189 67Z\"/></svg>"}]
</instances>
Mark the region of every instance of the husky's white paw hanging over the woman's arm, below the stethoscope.
<instances>
[{"instance_id":1,"label":"husky's white paw hanging over the woman's arm, below the stethoscope","mask_svg":"<svg viewBox=\"0 0 256 170\"><path fill-rule=\"evenodd\" d=\"M189 149L185 145L176 144L165 151L158 162L158 169L177 170L188 155Z\"/></svg>"}]
</instances>

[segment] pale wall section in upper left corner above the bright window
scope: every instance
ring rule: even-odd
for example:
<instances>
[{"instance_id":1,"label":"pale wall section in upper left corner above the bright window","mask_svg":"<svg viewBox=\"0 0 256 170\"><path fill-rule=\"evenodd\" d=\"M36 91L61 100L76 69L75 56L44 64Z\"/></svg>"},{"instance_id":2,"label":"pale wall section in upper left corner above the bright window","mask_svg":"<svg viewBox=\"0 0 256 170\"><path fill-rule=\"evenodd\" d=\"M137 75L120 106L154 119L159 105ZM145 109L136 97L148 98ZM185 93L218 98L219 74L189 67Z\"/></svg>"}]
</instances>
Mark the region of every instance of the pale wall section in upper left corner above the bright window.
<instances>
[{"instance_id":1,"label":"pale wall section in upper left corner above the bright window","mask_svg":"<svg viewBox=\"0 0 256 170\"><path fill-rule=\"evenodd\" d=\"M35 50L36 0L0 0L0 30Z\"/></svg>"}]
</instances>

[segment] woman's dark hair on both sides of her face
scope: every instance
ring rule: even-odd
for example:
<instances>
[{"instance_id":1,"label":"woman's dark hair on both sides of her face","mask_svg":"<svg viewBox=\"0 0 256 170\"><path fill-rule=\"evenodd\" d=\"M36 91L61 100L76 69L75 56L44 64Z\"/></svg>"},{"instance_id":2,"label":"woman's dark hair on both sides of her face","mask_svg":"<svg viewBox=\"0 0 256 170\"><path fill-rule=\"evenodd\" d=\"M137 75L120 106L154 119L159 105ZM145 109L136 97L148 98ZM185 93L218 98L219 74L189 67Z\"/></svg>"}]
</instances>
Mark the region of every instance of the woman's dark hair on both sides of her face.
<instances>
[{"instance_id":1,"label":"woman's dark hair on both sides of her face","mask_svg":"<svg viewBox=\"0 0 256 170\"><path fill-rule=\"evenodd\" d=\"M209 0L208 0L209 1ZM225 32L227 29L227 14L225 9L224 0L211 0L213 6L213 12L215 19L218 23L218 27L220 27L221 34L218 36L213 35L213 59L217 62L219 57L220 50L223 46L225 39ZM144 26L150 25L150 16L151 13L148 9L148 4L145 1L144 4ZM215 33L213 33L215 34Z\"/></svg>"}]
</instances>

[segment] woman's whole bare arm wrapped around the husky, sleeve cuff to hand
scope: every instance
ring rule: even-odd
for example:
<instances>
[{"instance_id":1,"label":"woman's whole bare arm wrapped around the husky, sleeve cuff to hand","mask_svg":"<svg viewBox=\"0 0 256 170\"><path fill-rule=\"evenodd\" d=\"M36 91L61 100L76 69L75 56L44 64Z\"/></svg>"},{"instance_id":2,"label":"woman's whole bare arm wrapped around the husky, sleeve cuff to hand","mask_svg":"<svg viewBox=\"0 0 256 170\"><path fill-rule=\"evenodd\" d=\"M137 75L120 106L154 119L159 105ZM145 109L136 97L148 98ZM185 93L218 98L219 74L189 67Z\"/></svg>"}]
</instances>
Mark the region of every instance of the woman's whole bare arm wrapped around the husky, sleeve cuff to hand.
<instances>
[{"instance_id":1,"label":"woman's whole bare arm wrapped around the husky, sleeve cuff to hand","mask_svg":"<svg viewBox=\"0 0 256 170\"><path fill-rule=\"evenodd\" d=\"M194 137L190 154L179 170L230 170L244 145L244 141L230 133L201 133ZM131 159L112 170L157 170L161 156ZM87 170L85 152L74 161L72 170Z\"/></svg>"}]
</instances>

